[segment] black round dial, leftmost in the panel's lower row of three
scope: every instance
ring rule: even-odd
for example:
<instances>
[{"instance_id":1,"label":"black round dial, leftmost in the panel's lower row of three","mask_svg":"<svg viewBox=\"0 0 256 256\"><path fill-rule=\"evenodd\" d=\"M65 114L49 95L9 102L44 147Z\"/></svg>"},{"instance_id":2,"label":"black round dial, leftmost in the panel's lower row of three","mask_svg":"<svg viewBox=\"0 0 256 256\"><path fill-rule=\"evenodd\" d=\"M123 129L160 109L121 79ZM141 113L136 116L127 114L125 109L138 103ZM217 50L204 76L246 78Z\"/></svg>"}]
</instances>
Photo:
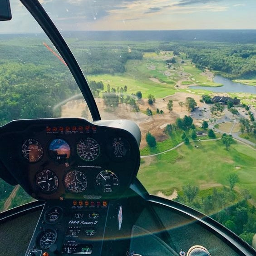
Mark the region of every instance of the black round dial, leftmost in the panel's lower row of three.
<instances>
[{"instance_id":1,"label":"black round dial, leftmost in the panel's lower row of three","mask_svg":"<svg viewBox=\"0 0 256 256\"><path fill-rule=\"evenodd\" d=\"M54 172L44 169L36 174L35 183L43 192L51 193L57 190L59 179Z\"/></svg>"}]
</instances>

